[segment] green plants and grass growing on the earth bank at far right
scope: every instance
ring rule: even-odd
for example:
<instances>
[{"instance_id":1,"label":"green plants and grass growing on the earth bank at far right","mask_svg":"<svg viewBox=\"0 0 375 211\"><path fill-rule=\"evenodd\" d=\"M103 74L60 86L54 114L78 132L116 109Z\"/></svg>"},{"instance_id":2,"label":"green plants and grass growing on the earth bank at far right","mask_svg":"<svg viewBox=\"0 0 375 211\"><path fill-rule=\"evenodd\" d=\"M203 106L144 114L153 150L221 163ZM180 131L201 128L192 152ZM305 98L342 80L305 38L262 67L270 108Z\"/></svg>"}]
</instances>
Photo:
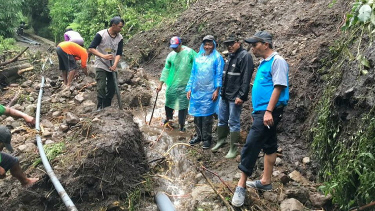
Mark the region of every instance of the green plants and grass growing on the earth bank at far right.
<instances>
[{"instance_id":1,"label":"green plants and grass growing on the earth bank at far right","mask_svg":"<svg viewBox=\"0 0 375 211\"><path fill-rule=\"evenodd\" d=\"M348 122L358 127L354 134L348 136L343 135L343 123L337 117L334 103L343 74L343 62L357 60L358 75L368 73L370 65L361 46L363 37L366 37L367 44L372 42L375 32L374 9L373 0L356 0L353 3L341 28L342 38L330 47L331 59L320 69L325 73L322 78L326 84L316 105L317 122L311 129L312 148L319 158L319 176L325 181L320 189L333 195L333 202L338 203L341 209L369 203L375 196L374 108L358 116L360 120ZM356 47L355 56L350 52L350 47L354 50Z\"/></svg>"}]
</instances>

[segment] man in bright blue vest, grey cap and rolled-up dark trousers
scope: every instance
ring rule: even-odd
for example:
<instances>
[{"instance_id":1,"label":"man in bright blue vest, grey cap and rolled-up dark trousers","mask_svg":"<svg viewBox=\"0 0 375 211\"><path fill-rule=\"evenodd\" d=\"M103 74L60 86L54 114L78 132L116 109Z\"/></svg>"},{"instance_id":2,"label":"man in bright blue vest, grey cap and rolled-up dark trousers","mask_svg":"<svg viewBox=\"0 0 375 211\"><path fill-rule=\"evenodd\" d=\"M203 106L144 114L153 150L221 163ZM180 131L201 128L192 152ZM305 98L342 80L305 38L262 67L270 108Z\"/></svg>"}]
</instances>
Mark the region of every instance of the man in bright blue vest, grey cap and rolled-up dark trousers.
<instances>
[{"instance_id":1,"label":"man in bright blue vest, grey cap and rolled-up dark trousers","mask_svg":"<svg viewBox=\"0 0 375 211\"><path fill-rule=\"evenodd\" d=\"M245 39L252 45L252 53L261 57L251 91L252 125L241 151L238 168L242 171L232 197L233 206L240 207L245 199L245 186L258 190L271 190L271 175L276 160L276 126L289 100L289 66L272 49L272 36L267 31L258 31ZM260 150L264 151L264 170L260 180L247 181L251 175Z\"/></svg>"}]
</instances>

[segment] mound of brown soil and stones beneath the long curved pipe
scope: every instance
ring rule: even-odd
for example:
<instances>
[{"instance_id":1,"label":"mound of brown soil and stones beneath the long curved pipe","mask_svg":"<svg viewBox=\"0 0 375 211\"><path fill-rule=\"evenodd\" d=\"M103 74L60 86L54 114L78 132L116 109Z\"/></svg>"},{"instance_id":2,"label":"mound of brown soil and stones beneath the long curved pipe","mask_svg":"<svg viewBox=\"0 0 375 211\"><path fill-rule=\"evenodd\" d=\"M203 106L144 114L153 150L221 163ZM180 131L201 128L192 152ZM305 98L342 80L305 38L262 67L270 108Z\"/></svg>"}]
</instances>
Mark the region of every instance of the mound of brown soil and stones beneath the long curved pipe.
<instances>
[{"instance_id":1,"label":"mound of brown soil and stones beneath the long curved pipe","mask_svg":"<svg viewBox=\"0 0 375 211\"><path fill-rule=\"evenodd\" d=\"M42 49L41 49L42 50ZM52 54L52 60L57 58ZM143 147L144 137L128 110L119 111L116 99L112 106L96 112L95 80L79 72L70 89L59 87L61 78L56 65L43 72L46 83L41 102L41 134L43 143L63 143L62 151L50 164L65 191L78 210L101 210L123 207L128 194L139 188L142 174L148 171ZM35 65L36 71L40 69ZM92 70L93 67L89 66ZM120 91L125 107L148 105L147 80L135 70L125 69ZM92 72L91 72L92 73ZM26 77L27 76L27 77ZM34 116L39 74L33 72L4 90L2 102L10 101L20 91L12 107ZM136 92L134 94L133 92ZM136 105L134 105L136 102ZM0 207L4 210L65 210L41 163L33 166L38 153L35 133L25 130L23 119L1 117L1 124L12 129L13 155L29 177L39 181L21 187L10 176L0 182ZM127 201L127 200L126 200Z\"/></svg>"}]
</instances>

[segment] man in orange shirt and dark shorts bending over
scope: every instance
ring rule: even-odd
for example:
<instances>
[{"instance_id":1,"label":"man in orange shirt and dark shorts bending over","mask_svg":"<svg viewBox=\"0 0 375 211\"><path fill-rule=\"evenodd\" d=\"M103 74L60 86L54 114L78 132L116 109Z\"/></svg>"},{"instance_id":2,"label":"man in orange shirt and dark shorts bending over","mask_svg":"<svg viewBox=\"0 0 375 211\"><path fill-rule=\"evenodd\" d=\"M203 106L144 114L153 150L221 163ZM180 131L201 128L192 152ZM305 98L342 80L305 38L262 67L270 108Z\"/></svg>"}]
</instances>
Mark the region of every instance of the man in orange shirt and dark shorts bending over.
<instances>
[{"instance_id":1,"label":"man in orange shirt and dark shorts bending over","mask_svg":"<svg viewBox=\"0 0 375 211\"><path fill-rule=\"evenodd\" d=\"M63 41L57 45L56 52L59 68L62 71L64 85L70 86L75 70L79 68L75 60L81 60L82 71L87 75L87 51L85 48L71 41Z\"/></svg>"}]
</instances>

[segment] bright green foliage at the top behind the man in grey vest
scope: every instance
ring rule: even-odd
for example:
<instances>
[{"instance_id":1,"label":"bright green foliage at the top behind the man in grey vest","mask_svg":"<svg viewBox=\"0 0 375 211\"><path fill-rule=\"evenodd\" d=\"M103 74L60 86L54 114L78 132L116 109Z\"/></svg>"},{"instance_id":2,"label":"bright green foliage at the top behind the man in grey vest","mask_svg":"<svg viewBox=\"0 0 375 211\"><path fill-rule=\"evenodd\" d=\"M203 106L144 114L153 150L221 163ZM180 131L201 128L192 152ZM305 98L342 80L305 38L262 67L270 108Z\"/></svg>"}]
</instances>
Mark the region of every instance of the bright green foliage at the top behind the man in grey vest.
<instances>
[{"instance_id":1,"label":"bright green foliage at the top behind the man in grey vest","mask_svg":"<svg viewBox=\"0 0 375 211\"><path fill-rule=\"evenodd\" d=\"M124 19L121 34L131 37L173 19L195 0L49 0L50 29L56 41L63 40L64 29L74 26L90 43L97 31L109 27L109 20L116 15Z\"/></svg>"}]
</instances>

